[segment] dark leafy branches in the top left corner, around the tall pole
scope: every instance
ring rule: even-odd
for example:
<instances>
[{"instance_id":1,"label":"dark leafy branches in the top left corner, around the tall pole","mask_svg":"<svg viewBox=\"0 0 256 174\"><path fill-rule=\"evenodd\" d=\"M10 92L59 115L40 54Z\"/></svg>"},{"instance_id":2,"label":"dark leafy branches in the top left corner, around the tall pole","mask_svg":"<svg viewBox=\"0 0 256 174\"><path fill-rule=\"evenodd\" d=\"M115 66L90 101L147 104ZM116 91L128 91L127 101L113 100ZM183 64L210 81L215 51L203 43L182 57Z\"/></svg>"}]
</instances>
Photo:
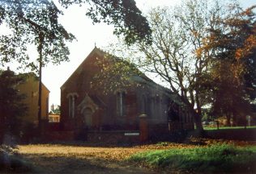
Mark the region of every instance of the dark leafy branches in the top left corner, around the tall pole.
<instances>
[{"instance_id":1,"label":"dark leafy branches in the top left corner, around the tall pole","mask_svg":"<svg viewBox=\"0 0 256 174\"><path fill-rule=\"evenodd\" d=\"M27 55L28 45L43 49L43 64L59 64L68 60L67 41L75 39L60 23L62 11L52 1L1 1L2 23L9 29L0 35L1 63L16 60L21 65L36 68ZM39 58L37 59L39 61Z\"/></svg>"}]
</instances>

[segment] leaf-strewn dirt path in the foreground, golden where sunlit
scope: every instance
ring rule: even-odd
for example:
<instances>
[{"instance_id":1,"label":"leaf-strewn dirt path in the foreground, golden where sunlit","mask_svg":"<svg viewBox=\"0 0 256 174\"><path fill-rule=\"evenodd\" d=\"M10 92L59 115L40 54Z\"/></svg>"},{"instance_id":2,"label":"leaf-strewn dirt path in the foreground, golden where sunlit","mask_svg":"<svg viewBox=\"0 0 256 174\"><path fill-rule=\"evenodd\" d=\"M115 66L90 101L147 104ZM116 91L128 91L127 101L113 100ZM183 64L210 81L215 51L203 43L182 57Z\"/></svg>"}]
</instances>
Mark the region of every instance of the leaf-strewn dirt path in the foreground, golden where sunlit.
<instances>
[{"instance_id":1,"label":"leaf-strewn dirt path in the foreground, golden where sunlit","mask_svg":"<svg viewBox=\"0 0 256 174\"><path fill-rule=\"evenodd\" d=\"M25 160L32 162L32 173L156 173L126 161L145 148L76 147L63 145L19 146Z\"/></svg>"}]
</instances>

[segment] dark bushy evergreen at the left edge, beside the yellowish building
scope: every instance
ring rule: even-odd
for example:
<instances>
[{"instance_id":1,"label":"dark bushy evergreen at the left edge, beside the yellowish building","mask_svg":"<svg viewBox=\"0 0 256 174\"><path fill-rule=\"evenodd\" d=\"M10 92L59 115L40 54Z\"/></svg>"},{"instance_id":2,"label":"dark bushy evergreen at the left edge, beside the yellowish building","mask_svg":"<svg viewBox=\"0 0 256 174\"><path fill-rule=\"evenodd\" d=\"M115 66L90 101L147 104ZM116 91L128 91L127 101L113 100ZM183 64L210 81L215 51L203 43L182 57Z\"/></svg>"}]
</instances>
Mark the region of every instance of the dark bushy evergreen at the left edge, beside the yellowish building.
<instances>
[{"instance_id":1,"label":"dark bushy evergreen at the left edge, beside the yellowish building","mask_svg":"<svg viewBox=\"0 0 256 174\"><path fill-rule=\"evenodd\" d=\"M16 86L24 78L15 75L11 70L0 73L0 143L4 143L4 135L19 135L20 117L26 112L22 100L25 96L19 94Z\"/></svg>"}]
</instances>

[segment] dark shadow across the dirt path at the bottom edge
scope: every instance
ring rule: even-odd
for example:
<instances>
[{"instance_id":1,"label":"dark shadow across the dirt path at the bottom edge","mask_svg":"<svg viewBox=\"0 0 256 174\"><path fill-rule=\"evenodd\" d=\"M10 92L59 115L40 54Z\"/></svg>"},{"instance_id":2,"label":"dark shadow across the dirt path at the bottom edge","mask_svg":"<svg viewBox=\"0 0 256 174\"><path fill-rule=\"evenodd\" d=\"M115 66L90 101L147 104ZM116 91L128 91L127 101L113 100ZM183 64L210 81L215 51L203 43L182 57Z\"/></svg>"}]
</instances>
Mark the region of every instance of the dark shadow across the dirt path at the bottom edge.
<instances>
[{"instance_id":1,"label":"dark shadow across the dirt path at the bottom edge","mask_svg":"<svg viewBox=\"0 0 256 174\"><path fill-rule=\"evenodd\" d=\"M75 155L23 155L28 161L33 161L30 173L148 173L141 168L132 168L127 163L110 162L92 156Z\"/></svg>"}]
</instances>

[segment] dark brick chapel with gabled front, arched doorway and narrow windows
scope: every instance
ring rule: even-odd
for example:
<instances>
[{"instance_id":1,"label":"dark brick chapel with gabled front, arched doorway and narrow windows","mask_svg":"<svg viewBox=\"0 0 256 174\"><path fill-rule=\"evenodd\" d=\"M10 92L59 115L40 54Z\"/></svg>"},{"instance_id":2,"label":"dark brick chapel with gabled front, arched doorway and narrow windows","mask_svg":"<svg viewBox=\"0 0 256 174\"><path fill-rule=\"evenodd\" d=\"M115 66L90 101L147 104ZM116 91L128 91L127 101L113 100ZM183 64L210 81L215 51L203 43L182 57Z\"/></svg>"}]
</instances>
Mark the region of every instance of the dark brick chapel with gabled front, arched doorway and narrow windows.
<instances>
[{"instance_id":1,"label":"dark brick chapel with gabled front, arched doorway and narrow windows","mask_svg":"<svg viewBox=\"0 0 256 174\"><path fill-rule=\"evenodd\" d=\"M62 85L62 130L74 131L75 135L82 135L84 139L88 139L88 133L93 132L97 139L101 139L106 132L139 131L140 116L143 115L147 118L148 135L159 136L170 130L170 113L173 113L169 112L170 103L177 106L177 127L193 127L191 114L181 109L181 103L172 92L145 75L131 79L139 84L138 88L127 87L108 94L92 88L91 81L100 72L96 60L103 57L105 52L94 48Z\"/></svg>"}]
</instances>

